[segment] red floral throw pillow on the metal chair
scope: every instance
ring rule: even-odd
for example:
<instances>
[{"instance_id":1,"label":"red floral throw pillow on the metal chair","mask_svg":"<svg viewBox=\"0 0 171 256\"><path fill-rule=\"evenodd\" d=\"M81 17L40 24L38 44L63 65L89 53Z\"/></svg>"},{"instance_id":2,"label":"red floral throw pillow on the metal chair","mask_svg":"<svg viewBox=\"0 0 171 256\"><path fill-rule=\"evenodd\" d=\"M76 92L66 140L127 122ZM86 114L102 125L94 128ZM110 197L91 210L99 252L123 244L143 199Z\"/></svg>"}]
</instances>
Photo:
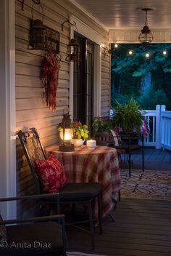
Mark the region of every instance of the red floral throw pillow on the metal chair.
<instances>
[{"instance_id":1,"label":"red floral throw pillow on the metal chair","mask_svg":"<svg viewBox=\"0 0 171 256\"><path fill-rule=\"evenodd\" d=\"M46 160L35 160L35 167L44 192L56 193L67 183L64 168L52 153Z\"/></svg>"}]
</instances>

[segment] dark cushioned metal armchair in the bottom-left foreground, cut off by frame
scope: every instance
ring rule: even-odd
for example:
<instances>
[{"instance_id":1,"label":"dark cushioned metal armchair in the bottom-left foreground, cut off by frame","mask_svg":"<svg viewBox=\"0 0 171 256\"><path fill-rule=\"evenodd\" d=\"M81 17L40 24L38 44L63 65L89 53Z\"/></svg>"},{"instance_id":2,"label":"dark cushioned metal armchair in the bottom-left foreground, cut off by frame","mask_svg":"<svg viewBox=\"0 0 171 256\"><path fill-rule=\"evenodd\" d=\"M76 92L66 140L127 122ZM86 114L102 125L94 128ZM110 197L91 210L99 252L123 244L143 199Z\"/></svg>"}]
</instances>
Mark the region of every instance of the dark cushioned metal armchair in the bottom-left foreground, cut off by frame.
<instances>
[{"instance_id":1,"label":"dark cushioned metal armchair in the bottom-left foreground, cut off by frame","mask_svg":"<svg viewBox=\"0 0 171 256\"><path fill-rule=\"evenodd\" d=\"M0 199L0 203L19 200L59 200L59 194L20 196ZM1 209L0 204L0 209ZM0 215L0 255L66 255L64 215L2 220Z\"/></svg>"}]
</instances>

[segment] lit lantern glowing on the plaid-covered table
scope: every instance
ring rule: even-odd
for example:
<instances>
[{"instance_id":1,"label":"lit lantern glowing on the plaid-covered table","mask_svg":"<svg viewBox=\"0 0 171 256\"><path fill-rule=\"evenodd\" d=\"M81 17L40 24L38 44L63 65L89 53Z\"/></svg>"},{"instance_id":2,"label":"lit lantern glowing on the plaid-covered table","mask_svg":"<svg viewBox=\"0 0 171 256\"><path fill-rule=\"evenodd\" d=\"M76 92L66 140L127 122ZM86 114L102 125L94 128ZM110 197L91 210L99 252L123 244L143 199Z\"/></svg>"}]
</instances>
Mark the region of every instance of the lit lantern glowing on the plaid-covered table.
<instances>
[{"instance_id":1,"label":"lit lantern glowing on the plaid-covered table","mask_svg":"<svg viewBox=\"0 0 171 256\"><path fill-rule=\"evenodd\" d=\"M60 124L59 136L62 139L62 144L59 145L59 151L70 152L75 151L74 145L70 143L73 132L71 128L71 119L69 113L63 115L62 123Z\"/></svg>"}]
</instances>

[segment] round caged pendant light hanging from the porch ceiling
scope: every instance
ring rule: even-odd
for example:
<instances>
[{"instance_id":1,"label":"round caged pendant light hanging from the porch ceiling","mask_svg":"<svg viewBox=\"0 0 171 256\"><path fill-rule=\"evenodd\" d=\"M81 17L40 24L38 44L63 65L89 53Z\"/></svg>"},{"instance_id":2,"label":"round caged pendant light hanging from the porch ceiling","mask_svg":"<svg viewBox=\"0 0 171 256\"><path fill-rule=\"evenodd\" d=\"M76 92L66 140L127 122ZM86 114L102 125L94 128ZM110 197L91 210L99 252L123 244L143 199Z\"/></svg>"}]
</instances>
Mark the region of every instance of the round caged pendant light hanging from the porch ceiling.
<instances>
[{"instance_id":1,"label":"round caged pendant light hanging from the porch ceiling","mask_svg":"<svg viewBox=\"0 0 171 256\"><path fill-rule=\"evenodd\" d=\"M151 41L153 41L153 35L147 23L147 12L152 11L153 9L141 8L141 10L146 12L146 21L145 21L145 25L143 26L143 29L141 30L141 33L138 36L138 40L141 42L141 44L143 44L144 47L148 47L149 44L151 44Z\"/></svg>"}]
</instances>

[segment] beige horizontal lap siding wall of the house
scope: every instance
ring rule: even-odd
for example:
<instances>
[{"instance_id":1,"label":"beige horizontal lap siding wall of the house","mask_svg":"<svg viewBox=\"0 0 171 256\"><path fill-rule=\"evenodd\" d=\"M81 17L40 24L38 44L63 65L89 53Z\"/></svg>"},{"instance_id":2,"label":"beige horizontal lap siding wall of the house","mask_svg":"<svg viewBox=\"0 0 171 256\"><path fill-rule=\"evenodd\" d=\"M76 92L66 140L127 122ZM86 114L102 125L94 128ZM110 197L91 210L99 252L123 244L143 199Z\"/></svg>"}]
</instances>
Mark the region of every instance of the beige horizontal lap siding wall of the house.
<instances>
[{"instance_id":1,"label":"beige horizontal lap siding wall of the house","mask_svg":"<svg viewBox=\"0 0 171 256\"><path fill-rule=\"evenodd\" d=\"M57 124L62 119L64 107L69 107L70 65L65 62L67 44L70 41L70 29L67 20L70 13L80 18L87 25L92 26L98 33L107 39L107 31L100 28L89 17L81 13L70 1L41 0L44 12L44 25L60 33L60 54L62 55L61 68L57 88L57 111L53 112L46 107L41 84L41 62L44 51L28 50L28 33L30 28L32 1L25 1L22 11L22 1L16 0L15 26L16 26L16 131L36 127L43 146L57 143ZM41 19L41 9L34 5L33 19ZM70 9L70 13L67 11ZM39 12L40 10L40 12ZM109 57L101 60L101 116L109 115ZM17 194L34 193L34 183L30 175L25 156L17 140ZM18 207L18 215L25 215L25 209Z\"/></svg>"}]
</instances>

